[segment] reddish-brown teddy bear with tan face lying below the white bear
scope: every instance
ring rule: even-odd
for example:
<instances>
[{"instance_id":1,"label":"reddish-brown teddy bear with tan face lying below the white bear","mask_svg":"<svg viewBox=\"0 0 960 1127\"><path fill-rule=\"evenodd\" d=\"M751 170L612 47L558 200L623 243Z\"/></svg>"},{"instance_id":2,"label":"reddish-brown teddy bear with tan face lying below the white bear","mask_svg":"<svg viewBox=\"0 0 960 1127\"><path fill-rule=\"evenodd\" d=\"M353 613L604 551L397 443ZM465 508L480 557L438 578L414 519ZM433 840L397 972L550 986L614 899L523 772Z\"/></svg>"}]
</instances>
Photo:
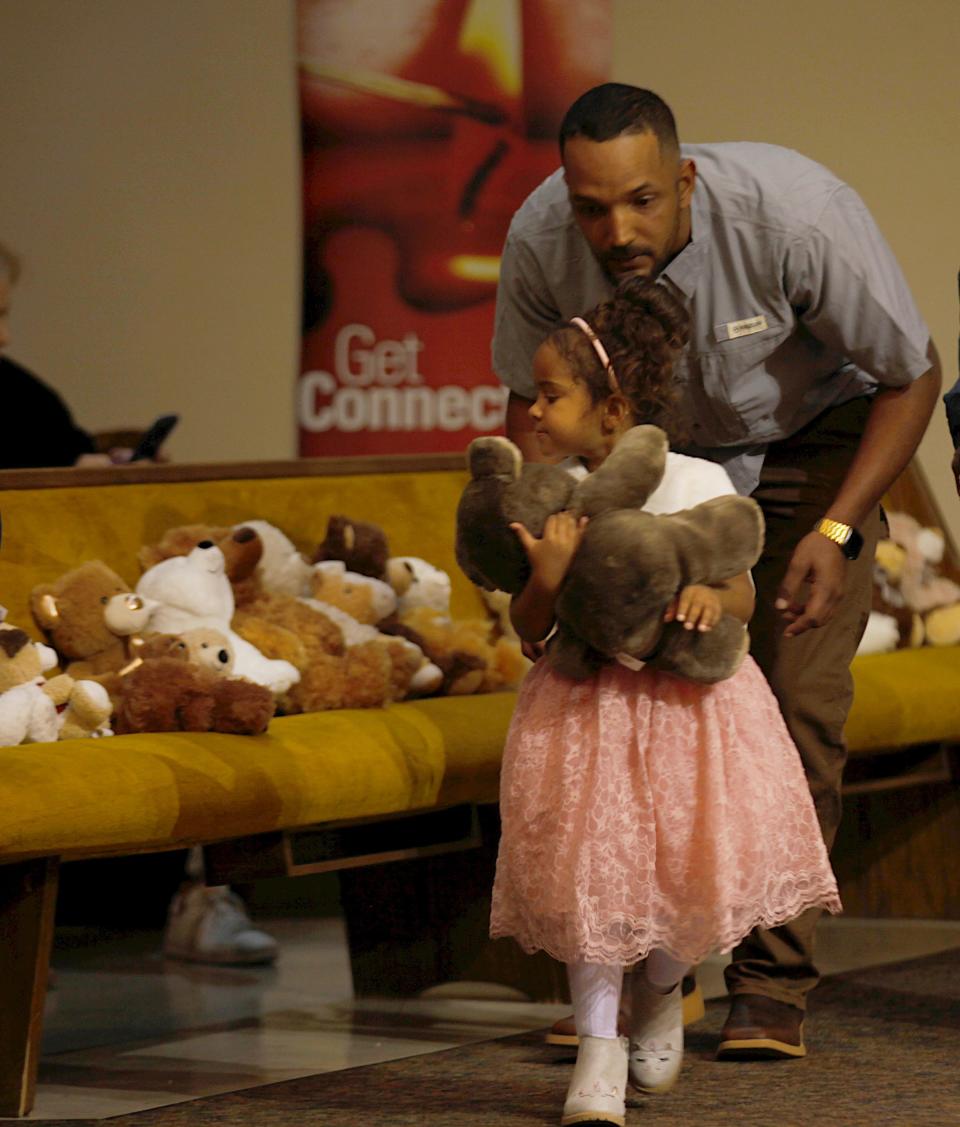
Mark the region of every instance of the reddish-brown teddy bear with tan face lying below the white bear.
<instances>
[{"instance_id":1,"label":"reddish-brown teddy bear with tan face lying below the white bear","mask_svg":"<svg viewBox=\"0 0 960 1127\"><path fill-rule=\"evenodd\" d=\"M143 658L122 678L117 734L266 731L274 695L264 685L231 676L233 650L225 635L205 627L183 635L151 635L144 639Z\"/></svg>"}]
</instances>

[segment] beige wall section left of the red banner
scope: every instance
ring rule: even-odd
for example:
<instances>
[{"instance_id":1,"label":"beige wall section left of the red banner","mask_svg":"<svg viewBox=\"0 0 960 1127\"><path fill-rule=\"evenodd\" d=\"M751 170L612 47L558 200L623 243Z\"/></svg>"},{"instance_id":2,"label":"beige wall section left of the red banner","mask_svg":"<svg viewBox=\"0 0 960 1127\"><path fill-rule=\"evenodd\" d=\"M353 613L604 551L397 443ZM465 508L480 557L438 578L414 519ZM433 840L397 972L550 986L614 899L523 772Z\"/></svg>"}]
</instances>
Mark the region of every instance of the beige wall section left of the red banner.
<instances>
[{"instance_id":1,"label":"beige wall section left of the red banner","mask_svg":"<svg viewBox=\"0 0 960 1127\"><path fill-rule=\"evenodd\" d=\"M0 0L10 353L88 428L293 455L294 34L290 0Z\"/></svg>"}]
</instances>

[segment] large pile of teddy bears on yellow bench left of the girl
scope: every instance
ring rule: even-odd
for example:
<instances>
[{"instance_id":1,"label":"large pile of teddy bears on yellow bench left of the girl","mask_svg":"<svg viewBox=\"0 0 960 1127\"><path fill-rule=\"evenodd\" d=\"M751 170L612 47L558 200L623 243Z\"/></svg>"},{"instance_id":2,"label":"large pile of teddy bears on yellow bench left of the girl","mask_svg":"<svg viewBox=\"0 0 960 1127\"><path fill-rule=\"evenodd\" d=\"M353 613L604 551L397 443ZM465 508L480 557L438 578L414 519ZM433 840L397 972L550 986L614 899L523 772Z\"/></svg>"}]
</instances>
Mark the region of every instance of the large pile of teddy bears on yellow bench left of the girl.
<instances>
[{"instance_id":1,"label":"large pile of teddy bears on yellow bench left of the girl","mask_svg":"<svg viewBox=\"0 0 960 1127\"><path fill-rule=\"evenodd\" d=\"M251 520L171 529L139 562L135 589L101 560L35 587L48 645L0 607L0 746L256 735L275 715L512 687L528 664L503 601L453 619L446 573L391 557L379 525L346 516L312 560Z\"/></svg>"}]
</instances>

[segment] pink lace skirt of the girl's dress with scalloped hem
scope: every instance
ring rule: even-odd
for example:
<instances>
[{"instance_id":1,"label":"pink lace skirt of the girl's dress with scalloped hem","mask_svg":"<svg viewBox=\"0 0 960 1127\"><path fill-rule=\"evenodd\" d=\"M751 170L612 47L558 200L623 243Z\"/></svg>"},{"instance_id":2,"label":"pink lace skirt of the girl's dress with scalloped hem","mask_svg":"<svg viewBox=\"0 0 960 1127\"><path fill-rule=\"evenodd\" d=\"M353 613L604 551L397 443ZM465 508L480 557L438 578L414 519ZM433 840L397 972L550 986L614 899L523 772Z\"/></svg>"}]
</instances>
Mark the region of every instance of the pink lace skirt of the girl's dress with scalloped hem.
<instances>
[{"instance_id":1,"label":"pink lace skirt of the girl's dress with scalloped hem","mask_svg":"<svg viewBox=\"0 0 960 1127\"><path fill-rule=\"evenodd\" d=\"M702 498L697 498L702 499ZM800 756L754 660L715 685L540 660L504 753L490 933L565 962L696 962L841 909Z\"/></svg>"}]
</instances>

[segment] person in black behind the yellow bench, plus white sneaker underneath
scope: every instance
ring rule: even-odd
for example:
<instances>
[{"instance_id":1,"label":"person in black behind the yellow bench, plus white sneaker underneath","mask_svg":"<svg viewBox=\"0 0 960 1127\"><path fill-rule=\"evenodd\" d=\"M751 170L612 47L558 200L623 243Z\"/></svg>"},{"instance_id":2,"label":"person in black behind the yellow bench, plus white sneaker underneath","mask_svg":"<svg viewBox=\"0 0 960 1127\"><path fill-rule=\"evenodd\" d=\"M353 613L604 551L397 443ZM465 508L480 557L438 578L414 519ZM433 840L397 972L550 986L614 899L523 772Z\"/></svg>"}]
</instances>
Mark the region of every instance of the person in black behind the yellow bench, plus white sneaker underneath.
<instances>
[{"instance_id":1,"label":"person in black behind the yellow bench, plus white sneaker underneath","mask_svg":"<svg viewBox=\"0 0 960 1127\"><path fill-rule=\"evenodd\" d=\"M5 355L20 269L19 257L0 242L0 401L5 424L0 470L128 462L131 449L98 452L94 437L74 423L56 391ZM167 914L163 953L168 958L228 965L274 961L276 940L254 926L240 897L225 886L204 885L198 850L190 851L186 864L183 859L174 859L174 863L185 879Z\"/></svg>"}]
</instances>

